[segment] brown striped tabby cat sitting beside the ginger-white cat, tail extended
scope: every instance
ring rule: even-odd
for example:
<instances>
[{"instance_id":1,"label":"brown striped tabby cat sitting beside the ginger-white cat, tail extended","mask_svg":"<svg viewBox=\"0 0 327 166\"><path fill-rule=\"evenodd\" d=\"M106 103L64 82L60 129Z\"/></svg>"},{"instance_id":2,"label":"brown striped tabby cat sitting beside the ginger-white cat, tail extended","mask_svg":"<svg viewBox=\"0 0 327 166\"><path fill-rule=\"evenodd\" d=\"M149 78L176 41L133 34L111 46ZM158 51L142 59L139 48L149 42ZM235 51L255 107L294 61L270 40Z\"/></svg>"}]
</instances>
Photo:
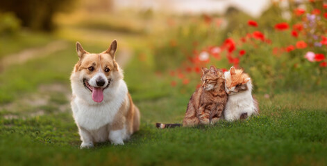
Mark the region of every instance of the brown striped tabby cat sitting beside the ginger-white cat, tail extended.
<instances>
[{"instance_id":1,"label":"brown striped tabby cat sitting beside the ginger-white cat, tail extended","mask_svg":"<svg viewBox=\"0 0 327 166\"><path fill-rule=\"evenodd\" d=\"M192 127L197 124L213 124L217 122L224 111L227 102L224 73L210 66L202 68L202 86L193 93L187 105L183 127ZM177 127L181 124L157 123L158 128Z\"/></svg>"}]
</instances>

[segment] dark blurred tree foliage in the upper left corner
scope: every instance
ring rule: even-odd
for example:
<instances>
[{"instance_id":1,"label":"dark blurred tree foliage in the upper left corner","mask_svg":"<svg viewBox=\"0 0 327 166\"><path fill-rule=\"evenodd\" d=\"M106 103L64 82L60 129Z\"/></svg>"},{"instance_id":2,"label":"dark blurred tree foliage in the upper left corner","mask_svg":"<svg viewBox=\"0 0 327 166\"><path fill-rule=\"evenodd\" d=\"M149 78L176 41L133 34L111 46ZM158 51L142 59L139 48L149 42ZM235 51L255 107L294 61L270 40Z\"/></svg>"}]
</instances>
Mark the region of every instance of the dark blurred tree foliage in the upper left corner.
<instances>
[{"instance_id":1,"label":"dark blurred tree foliage in the upper left corner","mask_svg":"<svg viewBox=\"0 0 327 166\"><path fill-rule=\"evenodd\" d=\"M76 0L1 0L0 12L13 12L22 26L33 30L53 30L53 15L72 9Z\"/></svg>"}]
</instances>

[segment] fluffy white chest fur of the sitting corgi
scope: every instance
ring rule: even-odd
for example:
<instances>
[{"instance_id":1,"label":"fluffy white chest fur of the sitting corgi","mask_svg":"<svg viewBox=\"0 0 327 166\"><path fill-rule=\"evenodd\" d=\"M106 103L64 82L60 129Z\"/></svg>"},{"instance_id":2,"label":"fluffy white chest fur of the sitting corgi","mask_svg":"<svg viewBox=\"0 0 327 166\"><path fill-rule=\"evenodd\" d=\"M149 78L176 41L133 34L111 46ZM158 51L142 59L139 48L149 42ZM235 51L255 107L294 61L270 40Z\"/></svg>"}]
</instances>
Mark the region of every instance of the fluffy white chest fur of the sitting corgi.
<instances>
[{"instance_id":1,"label":"fluffy white chest fur of the sitting corgi","mask_svg":"<svg viewBox=\"0 0 327 166\"><path fill-rule=\"evenodd\" d=\"M105 93L105 99L99 104L94 104L92 101L86 101L76 96L72 101L75 122L87 130L96 130L110 124L119 111L121 104L126 100L127 86L124 81L121 83L117 91Z\"/></svg>"}]
</instances>

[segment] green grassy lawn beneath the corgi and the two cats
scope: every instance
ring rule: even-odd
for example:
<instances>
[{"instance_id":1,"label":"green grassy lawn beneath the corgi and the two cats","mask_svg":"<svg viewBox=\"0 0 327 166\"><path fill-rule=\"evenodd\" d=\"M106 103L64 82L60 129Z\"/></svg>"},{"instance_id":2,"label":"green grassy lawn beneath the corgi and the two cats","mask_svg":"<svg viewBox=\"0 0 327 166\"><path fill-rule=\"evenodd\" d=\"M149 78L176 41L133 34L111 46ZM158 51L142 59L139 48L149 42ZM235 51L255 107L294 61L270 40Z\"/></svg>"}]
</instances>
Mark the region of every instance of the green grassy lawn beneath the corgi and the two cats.
<instances>
[{"instance_id":1,"label":"green grassy lawn beneath the corgi and the two cats","mask_svg":"<svg viewBox=\"0 0 327 166\"><path fill-rule=\"evenodd\" d=\"M257 94L257 118L160 130L155 122L183 120L194 89L171 88L136 57L125 80L142 114L140 131L124 146L78 149L69 108L69 75L76 61L72 42L60 53L0 73L1 165L327 165L326 90Z\"/></svg>"}]
</instances>

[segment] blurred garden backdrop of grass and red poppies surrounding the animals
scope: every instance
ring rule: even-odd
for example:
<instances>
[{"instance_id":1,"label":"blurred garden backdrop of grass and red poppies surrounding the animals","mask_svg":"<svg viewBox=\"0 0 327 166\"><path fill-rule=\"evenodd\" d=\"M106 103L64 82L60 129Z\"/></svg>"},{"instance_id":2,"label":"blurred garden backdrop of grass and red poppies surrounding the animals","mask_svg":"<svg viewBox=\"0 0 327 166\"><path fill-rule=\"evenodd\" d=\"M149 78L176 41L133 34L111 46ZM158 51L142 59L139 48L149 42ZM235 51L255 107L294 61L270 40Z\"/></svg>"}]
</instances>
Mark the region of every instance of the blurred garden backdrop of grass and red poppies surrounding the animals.
<instances>
[{"instance_id":1,"label":"blurred garden backdrop of grass and red poppies surrounding the animals","mask_svg":"<svg viewBox=\"0 0 327 166\"><path fill-rule=\"evenodd\" d=\"M326 34L322 0L1 0L0 163L326 165ZM76 42L101 53L113 39L141 130L80 151ZM182 122L210 65L249 73L260 118L156 129Z\"/></svg>"}]
</instances>

